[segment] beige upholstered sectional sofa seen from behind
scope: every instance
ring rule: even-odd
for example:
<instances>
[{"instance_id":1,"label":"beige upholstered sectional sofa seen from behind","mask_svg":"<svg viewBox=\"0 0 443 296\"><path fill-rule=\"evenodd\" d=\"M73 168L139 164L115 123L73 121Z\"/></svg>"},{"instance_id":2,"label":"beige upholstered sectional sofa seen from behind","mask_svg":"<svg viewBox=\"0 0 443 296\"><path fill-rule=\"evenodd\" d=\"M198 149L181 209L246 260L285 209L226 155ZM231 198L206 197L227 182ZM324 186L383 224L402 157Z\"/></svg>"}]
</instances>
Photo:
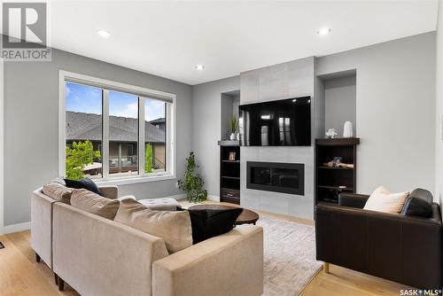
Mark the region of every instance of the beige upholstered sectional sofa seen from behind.
<instances>
[{"instance_id":1,"label":"beige upholstered sectional sofa seen from behind","mask_svg":"<svg viewBox=\"0 0 443 296\"><path fill-rule=\"evenodd\" d=\"M116 199L116 187L101 187ZM169 254L162 238L57 202L32 196L32 246L82 295L260 295L263 230L242 225Z\"/></svg>"}]
</instances>

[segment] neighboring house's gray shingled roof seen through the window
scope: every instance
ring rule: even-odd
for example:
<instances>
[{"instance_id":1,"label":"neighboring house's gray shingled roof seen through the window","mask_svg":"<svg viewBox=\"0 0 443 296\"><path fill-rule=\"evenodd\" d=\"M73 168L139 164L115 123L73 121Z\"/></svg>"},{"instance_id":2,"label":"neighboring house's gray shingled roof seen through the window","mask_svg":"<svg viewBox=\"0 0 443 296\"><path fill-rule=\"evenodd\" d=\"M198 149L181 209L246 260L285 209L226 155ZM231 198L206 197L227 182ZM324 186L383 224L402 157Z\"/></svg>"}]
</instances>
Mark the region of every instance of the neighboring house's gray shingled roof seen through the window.
<instances>
[{"instance_id":1,"label":"neighboring house's gray shingled roof seen through the window","mask_svg":"<svg viewBox=\"0 0 443 296\"><path fill-rule=\"evenodd\" d=\"M165 143L165 132L144 121L146 142ZM101 115L93 113L66 112L67 140L102 140ZM109 116L109 140L113 142L137 142L138 120L135 118Z\"/></svg>"}]
</instances>

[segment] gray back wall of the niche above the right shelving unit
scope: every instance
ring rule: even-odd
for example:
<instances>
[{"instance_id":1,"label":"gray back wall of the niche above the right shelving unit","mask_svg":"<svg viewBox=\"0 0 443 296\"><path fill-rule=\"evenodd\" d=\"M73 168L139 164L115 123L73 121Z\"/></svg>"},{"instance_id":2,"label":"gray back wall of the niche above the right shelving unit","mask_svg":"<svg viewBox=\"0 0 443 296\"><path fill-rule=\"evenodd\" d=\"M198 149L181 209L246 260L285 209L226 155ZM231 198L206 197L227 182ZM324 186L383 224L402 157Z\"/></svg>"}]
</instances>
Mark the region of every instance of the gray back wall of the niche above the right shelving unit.
<instances>
[{"instance_id":1,"label":"gray back wall of the niche above the right shelving unit","mask_svg":"<svg viewBox=\"0 0 443 296\"><path fill-rule=\"evenodd\" d=\"M327 79L324 85L324 126L325 129L336 129L338 136L343 136L345 121L353 123L355 134L355 76Z\"/></svg>"}]
</instances>

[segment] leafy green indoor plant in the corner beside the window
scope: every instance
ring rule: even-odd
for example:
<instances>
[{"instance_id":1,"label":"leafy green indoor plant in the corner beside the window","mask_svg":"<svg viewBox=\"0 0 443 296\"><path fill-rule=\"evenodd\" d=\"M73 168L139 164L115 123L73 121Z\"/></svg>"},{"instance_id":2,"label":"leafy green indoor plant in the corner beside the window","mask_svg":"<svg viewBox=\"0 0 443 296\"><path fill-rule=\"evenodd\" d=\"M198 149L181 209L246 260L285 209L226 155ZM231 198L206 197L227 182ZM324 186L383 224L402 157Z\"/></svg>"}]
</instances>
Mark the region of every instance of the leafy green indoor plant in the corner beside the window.
<instances>
[{"instance_id":1,"label":"leafy green indoor plant in the corner beside the window","mask_svg":"<svg viewBox=\"0 0 443 296\"><path fill-rule=\"evenodd\" d=\"M178 187L187 191L187 197L190 202L198 203L207 199L207 191L203 188L203 179L197 174L198 167L195 162L194 152L186 159L187 165L183 179L178 180Z\"/></svg>"}]
</instances>

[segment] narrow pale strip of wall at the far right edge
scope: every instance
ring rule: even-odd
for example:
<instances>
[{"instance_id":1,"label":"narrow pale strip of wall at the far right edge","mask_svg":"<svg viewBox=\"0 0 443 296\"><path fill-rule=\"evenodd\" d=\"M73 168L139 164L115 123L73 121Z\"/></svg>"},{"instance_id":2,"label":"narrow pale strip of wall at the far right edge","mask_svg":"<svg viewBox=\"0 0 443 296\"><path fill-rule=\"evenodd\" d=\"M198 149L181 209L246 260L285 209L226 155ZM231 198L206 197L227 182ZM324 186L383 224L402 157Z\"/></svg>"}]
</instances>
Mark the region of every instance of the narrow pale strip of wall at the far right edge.
<instances>
[{"instance_id":1,"label":"narrow pale strip of wall at the far right edge","mask_svg":"<svg viewBox=\"0 0 443 296\"><path fill-rule=\"evenodd\" d=\"M443 205L443 0L439 0L439 20L437 25L437 62L436 62L436 199Z\"/></svg>"}]
</instances>

